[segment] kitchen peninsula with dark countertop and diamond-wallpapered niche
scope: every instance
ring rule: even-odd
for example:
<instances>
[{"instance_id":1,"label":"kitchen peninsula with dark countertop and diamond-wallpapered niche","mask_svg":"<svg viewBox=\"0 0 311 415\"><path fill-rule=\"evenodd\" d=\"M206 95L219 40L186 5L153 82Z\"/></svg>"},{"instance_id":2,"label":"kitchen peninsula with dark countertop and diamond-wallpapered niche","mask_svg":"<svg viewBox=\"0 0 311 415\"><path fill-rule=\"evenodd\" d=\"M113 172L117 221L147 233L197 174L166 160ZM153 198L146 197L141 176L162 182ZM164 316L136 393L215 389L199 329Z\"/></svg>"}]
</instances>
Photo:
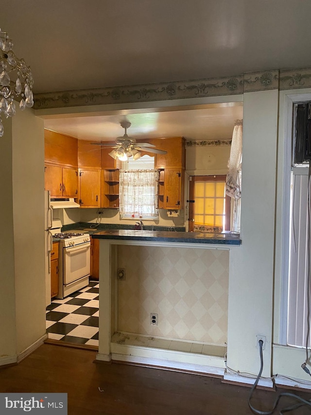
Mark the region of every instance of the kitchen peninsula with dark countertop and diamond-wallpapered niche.
<instances>
[{"instance_id":1,"label":"kitchen peninsula with dark countertop and diamond-wallpapered niche","mask_svg":"<svg viewBox=\"0 0 311 415\"><path fill-rule=\"evenodd\" d=\"M100 242L97 361L223 375L229 254L240 235L114 229L92 237Z\"/></svg>"}]
</instances>

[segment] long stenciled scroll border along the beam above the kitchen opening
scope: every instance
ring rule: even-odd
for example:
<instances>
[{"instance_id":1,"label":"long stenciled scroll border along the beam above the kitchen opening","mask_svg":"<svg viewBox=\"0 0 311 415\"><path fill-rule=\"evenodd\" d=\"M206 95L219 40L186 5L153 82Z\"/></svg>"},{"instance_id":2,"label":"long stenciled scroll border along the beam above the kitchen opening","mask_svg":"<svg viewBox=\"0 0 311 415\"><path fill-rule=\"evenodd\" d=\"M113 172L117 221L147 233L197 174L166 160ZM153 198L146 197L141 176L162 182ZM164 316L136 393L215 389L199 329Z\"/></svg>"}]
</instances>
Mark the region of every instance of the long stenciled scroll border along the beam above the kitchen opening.
<instances>
[{"instance_id":1,"label":"long stenciled scroll border along the beam above the kitchen opening","mask_svg":"<svg viewBox=\"0 0 311 415\"><path fill-rule=\"evenodd\" d=\"M35 94L35 109L125 104L236 95L259 90L311 87L311 69L246 72L243 75Z\"/></svg>"}]
</instances>

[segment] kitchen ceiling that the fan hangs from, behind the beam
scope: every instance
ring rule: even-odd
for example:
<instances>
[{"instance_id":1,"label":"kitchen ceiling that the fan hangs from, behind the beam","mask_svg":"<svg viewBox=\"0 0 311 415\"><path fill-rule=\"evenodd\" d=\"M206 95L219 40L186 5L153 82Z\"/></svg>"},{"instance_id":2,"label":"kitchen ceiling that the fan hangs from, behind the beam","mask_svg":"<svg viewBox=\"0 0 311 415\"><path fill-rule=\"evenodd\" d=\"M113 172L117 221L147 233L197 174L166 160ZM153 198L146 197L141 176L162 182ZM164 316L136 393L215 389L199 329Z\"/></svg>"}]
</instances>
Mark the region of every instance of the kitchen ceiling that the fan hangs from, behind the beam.
<instances>
[{"instance_id":1,"label":"kitchen ceiling that the fan hangs from, behind the beam","mask_svg":"<svg viewBox=\"0 0 311 415\"><path fill-rule=\"evenodd\" d=\"M221 140L231 138L234 120L243 118L242 103L161 112L122 112L96 117L48 119L45 120L45 127L81 140L109 141L124 134L120 123L127 120L132 124L127 134L135 139L185 137L186 140Z\"/></svg>"}]
</instances>

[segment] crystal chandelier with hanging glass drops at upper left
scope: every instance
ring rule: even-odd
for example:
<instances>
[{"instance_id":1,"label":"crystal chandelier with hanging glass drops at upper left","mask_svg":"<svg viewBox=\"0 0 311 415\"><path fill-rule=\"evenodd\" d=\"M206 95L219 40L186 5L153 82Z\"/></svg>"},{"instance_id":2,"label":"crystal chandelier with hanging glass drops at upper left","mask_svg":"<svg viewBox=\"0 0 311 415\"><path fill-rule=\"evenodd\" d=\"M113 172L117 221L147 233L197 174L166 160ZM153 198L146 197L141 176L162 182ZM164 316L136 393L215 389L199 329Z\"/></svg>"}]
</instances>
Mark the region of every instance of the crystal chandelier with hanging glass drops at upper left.
<instances>
[{"instance_id":1,"label":"crystal chandelier with hanging glass drops at upper left","mask_svg":"<svg viewBox=\"0 0 311 415\"><path fill-rule=\"evenodd\" d=\"M4 133L1 117L15 115L14 100L19 101L22 110L34 105L30 67L24 59L17 58L12 48L12 40L6 32L0 31L0 137Z\"/></svg>"}]
</instances>

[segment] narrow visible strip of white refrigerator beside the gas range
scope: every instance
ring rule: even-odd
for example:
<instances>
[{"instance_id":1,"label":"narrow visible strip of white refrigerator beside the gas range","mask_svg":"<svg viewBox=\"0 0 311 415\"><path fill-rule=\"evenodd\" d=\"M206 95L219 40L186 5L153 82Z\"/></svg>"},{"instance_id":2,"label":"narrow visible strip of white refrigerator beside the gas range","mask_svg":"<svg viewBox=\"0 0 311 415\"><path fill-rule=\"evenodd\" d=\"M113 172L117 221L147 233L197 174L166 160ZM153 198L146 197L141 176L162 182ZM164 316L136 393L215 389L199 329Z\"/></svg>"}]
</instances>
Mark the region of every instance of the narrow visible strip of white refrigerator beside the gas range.
<instances>
[{"instance_id":1,"label":"narrow visible strip of white refrigerator beside the gas range","mask_svg":"<svg viewBox=\"0 0 311 415\"><path fill-rule=\"evenodd\" d=\"M45 191L44 239L45 239L45 302L51 304L51 251L52 251L52 206L50 190Z\"/></svg>"}]
</instances>

